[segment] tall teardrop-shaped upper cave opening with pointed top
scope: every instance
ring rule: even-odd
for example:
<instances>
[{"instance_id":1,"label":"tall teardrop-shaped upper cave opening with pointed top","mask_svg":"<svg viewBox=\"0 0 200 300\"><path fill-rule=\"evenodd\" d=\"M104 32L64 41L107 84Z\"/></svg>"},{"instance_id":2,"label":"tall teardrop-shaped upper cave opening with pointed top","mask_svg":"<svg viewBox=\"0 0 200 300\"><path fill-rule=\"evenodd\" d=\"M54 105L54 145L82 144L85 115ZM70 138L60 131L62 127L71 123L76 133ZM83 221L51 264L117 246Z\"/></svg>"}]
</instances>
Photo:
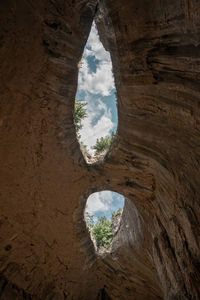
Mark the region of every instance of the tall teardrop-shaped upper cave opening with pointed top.
<instances>
[{"instance_id":1,"label":"tall teardrop-shaped upper cave opening with pointed top","mask_svg":"<svg viewBox=\"0 0 200 300\"><path fill-rule=\"evenodd\" d=\"M110 53L94 22L79 62L74 121L87 162L104 157L116 134L118 114Z\"/></svg>"}]
</instances>

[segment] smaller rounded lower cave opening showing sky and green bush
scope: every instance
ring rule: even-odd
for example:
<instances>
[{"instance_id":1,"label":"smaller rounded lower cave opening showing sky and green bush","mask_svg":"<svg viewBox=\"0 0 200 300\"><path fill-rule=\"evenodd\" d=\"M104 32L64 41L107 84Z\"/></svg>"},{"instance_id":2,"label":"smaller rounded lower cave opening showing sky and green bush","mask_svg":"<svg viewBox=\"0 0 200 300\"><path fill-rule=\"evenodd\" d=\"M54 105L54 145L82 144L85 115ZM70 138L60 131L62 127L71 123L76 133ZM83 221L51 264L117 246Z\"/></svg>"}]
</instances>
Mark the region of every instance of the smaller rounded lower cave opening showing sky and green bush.
<instances>
[{"instance_id":1,"label":"smaller rounded lower cave opening showing sky and green bush","mask_svg":"<svg viewBox=\"0 0 200 300\"><path fill-rule=\"evenodd\" d=\"M120 228L124 201L124 196L108 190L93 193L87 199L84 219L95 250L100 254L112 249L113 238Z\"/></svg>"}]
</instances>

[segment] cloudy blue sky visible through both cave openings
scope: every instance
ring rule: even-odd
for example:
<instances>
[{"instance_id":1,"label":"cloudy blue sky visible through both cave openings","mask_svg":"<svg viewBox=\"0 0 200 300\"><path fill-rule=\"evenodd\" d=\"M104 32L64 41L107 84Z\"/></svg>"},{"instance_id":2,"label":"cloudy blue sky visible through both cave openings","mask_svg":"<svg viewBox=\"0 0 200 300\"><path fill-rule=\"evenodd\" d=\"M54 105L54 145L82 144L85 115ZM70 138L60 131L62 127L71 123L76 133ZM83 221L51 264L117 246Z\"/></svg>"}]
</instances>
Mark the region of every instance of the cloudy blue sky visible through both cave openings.
<instances>
[{"instance_id":1,"label":"cloudy blue sky visible through both cave openings","mask_svg":"<svg viewBox=\"0 0 200 300\"><path fill-rule=\"evenodd\" d=\"M87 146L88 152L97 138L116 132L118 116L115 85L110 54L99 40L95 23L86 43L79 68L76 98L87 102L87 117L82 121L80 140ZM111 219L112 213L124 206L124 197L111 191L93 193L89 196L86 211L98 217Z\"/></svg>"}]
</instances>

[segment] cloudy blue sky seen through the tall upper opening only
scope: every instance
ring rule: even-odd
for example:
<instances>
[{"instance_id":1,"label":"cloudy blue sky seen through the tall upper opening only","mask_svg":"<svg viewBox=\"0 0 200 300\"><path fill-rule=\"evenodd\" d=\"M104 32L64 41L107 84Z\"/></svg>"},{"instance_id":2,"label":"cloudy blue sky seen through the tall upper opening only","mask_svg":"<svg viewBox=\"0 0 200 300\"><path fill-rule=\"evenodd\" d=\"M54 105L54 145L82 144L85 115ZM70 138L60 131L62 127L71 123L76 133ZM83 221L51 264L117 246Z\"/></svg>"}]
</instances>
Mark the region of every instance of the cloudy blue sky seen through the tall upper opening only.
<instances>
[{"instance_id":1,"label":"cloudy blue sky seen through the tall upper opening only","mask_svg":"<svg viewBox=\"0 0 200 300\"><path fill-rule=\"evenodd\" d=\"M105 51L93 23L79 69L76 98L86 101L87 118L82 121L80 140L94 154L97 138L117 129L115 85L110 53Z\"/></svg>"}]
</instances>

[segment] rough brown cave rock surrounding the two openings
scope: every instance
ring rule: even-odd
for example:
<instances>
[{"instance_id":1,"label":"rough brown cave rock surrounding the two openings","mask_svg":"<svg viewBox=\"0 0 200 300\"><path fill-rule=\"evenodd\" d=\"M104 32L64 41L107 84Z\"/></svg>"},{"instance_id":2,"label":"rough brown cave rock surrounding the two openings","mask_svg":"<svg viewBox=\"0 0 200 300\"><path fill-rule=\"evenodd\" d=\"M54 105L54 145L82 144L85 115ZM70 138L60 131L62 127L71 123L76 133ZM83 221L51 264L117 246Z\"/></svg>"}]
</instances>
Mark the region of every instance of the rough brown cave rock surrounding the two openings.
<instances>
[{"instance_id":1,"label":"rough brown cave rock surrounding the two openings","mask_svg":"<svg viewBox=\"0 0 200 300\"><path fill-rule=\"evenodd\" d=\"M0 299L199 299L200 3L0 3ZM111 52L118 137L87 165L73 105L93 18ZM110 254L87 197L127 199Z\"/></svg>"}]
</instances>

